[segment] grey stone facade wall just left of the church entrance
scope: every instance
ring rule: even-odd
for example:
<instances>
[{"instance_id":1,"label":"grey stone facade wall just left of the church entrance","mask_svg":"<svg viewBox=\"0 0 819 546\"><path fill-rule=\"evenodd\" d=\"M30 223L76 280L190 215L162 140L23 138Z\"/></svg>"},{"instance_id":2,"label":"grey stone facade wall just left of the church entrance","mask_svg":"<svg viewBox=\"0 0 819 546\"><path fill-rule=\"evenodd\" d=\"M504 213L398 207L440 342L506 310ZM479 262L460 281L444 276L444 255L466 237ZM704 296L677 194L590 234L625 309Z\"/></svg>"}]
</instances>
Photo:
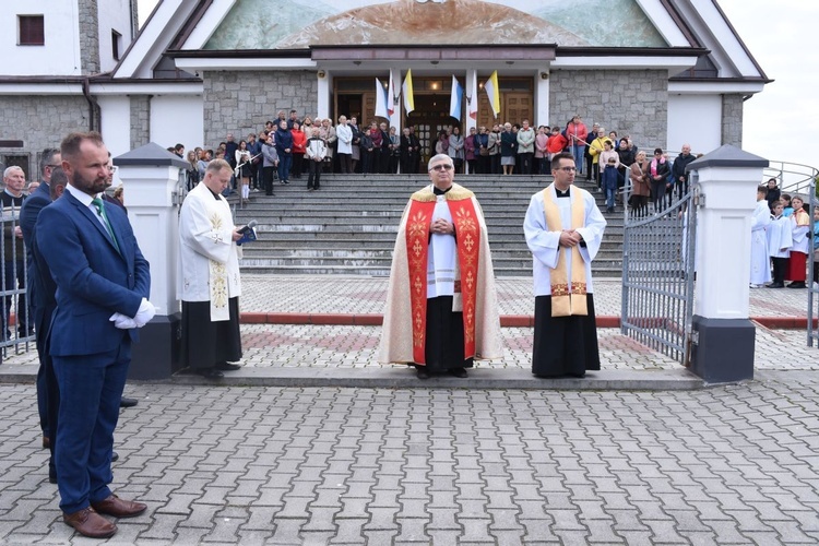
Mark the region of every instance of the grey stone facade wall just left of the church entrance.
<instances>
[{"instance_id":1,"label":"grey stone facade wall just left of the church entrance","mask_svg":"<svg viewBox=\"0 0 819 546\"><path fill-rule=\"evenodd\" d=\"M204 72L204 142L215 147L228 132L236 141L258 132L278 110L314 116L318 80L308 71Z\"/></svg>"}]
</instances>

